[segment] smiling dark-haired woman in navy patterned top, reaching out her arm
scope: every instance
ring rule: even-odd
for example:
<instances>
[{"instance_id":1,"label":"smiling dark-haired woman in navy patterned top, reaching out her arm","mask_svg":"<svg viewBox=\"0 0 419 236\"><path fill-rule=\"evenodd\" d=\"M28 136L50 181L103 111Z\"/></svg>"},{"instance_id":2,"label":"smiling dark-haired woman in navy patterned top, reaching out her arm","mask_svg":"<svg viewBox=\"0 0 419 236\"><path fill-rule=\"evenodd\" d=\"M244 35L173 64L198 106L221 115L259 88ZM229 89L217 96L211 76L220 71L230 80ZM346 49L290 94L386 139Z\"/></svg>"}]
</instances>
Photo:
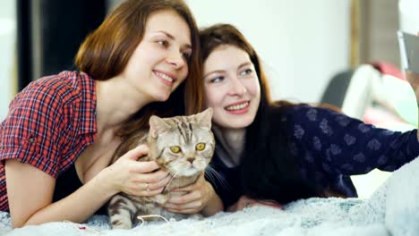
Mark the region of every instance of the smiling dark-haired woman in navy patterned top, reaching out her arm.
<instances>
[{"instance_id":1,"label":"smiling dark-haired woman in navy patterned top, reaching out her arm","mask_svg":"<svg viewBox=\"0 0 419 236\"><path fill-rule=\"evenodd\" d=\"M234 26L210 26L200 38L217 141L211 165L221 176L209 178L216 190L209 195L218 210L356 197L350 175L394 171L419 155L417 130L377 129L321 105L272 101L259 56ZM419 75L407 77L419 97Z\"/></svg>"}]
</instances>

